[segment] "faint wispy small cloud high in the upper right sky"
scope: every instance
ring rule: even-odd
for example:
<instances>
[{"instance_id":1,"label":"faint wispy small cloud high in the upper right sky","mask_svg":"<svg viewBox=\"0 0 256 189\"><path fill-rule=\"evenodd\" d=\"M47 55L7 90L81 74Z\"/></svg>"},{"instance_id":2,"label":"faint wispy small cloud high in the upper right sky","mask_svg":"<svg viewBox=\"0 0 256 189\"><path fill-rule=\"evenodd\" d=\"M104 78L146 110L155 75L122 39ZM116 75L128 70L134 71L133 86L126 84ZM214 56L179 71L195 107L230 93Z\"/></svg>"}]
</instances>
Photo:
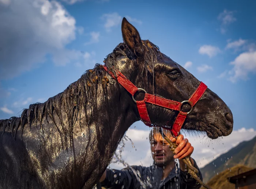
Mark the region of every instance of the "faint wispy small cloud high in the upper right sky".
<instances>
[{"instance_id":1,"label":"faint wispy small cloud high in the upper right sky","mask_svg":"<svg viewBox=\"0 0 256 189\"><path fill-rule=\"evenodd\" d=\"M227 11L226 9L219 13L218 20L221 21L220 31L222 34L225 34L227 31L227 26L235 22L237 19L234 17L236 11Z\"/></svg>"}]
</instances>

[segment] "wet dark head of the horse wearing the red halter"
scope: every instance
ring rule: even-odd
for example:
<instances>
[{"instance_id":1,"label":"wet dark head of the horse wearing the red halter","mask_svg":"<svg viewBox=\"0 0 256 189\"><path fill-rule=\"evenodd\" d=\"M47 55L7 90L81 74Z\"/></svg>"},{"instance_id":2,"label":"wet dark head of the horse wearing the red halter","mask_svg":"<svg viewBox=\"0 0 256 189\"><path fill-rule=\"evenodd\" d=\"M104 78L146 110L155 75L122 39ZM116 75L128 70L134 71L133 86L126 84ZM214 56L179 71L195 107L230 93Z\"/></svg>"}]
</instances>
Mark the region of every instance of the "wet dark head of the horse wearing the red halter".
<instances>
[{"instance_id":1,"label":"wet dark head of the horse wearing the red halter","mask_svg":"<svg viewBox=\"0 0 256 189\"><path fill-rule=\"evenodd\" d=\"M105 63L125 75L136 87L144 90L134 94L134 102L144 98L145 92L177 102L188 100L200 81L178 63L159 51L149 40L141 40L137 29L125 18L122 21L124 43L119 44ZM132 104L137 120L140 119L136 103ZM172 129L178 111L146 104L148 117L156 126ZM205 131L215 139L227 136L233 129L233 115L221 98L209 88L192 107L182 103L181 110L188 112L182 129ZM190 112L191 111L191 112Z\"/></svg>"}]
</instances>

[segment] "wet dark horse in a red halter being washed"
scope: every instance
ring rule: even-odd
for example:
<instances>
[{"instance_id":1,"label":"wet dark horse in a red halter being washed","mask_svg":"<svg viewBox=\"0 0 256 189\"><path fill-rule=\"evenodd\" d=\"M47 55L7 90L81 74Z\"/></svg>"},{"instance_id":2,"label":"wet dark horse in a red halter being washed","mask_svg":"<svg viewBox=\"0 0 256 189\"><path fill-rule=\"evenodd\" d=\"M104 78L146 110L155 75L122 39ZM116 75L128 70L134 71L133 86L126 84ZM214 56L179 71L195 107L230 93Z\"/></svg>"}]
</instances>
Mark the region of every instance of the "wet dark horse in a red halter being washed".
<instances>
[{"instance_id":1,"label":"wet dark horse in a red halter being washed","mask_svg":"<svg viewBox=\"0 0 256 189\"><path fill-rule=\"evenodd\" d=\"M162 54L125 18L124 43L105 59L135 86L178 102L199 86L192 74ZM136 99L143 98L143 93ZM182 107L182 109L189 107ZM147 104L151 122L172 127L178 112ZM139 121L131 95L97 64L64 92L36 103L21 117L0 120L0 188L92 188L125 131ZM233 129L230 109L207 88L183 129L215 139Z\"/></svg>"}]
</instances>

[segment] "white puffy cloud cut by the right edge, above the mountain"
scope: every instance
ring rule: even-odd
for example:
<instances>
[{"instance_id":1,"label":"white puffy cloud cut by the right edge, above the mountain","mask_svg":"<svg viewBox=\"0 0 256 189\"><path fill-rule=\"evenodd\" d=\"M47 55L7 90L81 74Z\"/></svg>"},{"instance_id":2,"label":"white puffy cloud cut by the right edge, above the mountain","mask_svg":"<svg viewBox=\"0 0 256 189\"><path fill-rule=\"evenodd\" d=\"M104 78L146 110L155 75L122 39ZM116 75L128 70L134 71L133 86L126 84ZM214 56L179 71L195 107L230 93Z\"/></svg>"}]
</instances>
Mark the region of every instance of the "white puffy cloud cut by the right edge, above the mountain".
<instances>
[{"instance_id":1,"label":"white puffy cloud cut by the right edge, above the mountain","mask_svg":"<svg viewBox=\"0 0 256 189\"><path fill-rule=\"evenodd\" d=\"M229 71L229 80L235 83L238 79L249 79L249 73L256 73L256 51L243 52L230 62L234 67Z\"/></svg>"}]
</instances>

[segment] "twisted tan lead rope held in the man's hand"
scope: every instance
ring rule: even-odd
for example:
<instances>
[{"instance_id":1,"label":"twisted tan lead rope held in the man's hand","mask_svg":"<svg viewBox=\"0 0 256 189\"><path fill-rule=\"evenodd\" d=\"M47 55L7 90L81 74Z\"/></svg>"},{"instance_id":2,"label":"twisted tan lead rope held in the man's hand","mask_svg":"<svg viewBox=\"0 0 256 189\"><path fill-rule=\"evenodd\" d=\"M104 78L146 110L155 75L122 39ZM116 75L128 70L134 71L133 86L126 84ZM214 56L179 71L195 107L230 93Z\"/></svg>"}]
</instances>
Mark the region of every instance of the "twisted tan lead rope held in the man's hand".
<instances>
[{"instance_id":1,"label":"twisted tan lead rope held in the man's hand","mask_svg":"<svg viewBox=\"0 0 256 189\"><path fill-rule=\"evenodd\" d=\"M159 129L161 131L161 134L163 136L163 138L170 144L169 148L170 150L174 153L174 150L176 149L176 143L170 141L169 138L166 137L166 135L163 133L162 129ZM175 153L174 153L175 154ZM203 181L200 180L200 178L197 176L196 173L198 173L198 170L191 164L190 160L188 157L185 157L183 159L181 159L181 161L184 162L184 164L187 165L188 167L188 173L191 175L191 177L193 177L201 186L203 186L204 188L207 189L212 189L210 186L208 186L207 184L204 184Z\"/></svg>"}]
</instances>

